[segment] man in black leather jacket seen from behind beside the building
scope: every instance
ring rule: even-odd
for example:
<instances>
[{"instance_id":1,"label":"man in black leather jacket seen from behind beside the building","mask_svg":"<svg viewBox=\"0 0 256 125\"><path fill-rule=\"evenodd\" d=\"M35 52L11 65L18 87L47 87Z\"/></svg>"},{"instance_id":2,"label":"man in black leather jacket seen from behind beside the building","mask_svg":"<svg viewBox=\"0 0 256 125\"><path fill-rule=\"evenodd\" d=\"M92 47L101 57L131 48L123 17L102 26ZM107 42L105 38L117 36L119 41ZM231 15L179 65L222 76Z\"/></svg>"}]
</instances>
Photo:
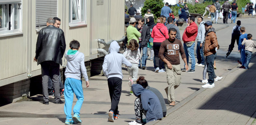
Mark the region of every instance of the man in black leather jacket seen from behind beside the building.
<instances>
[{"instance_id":1,"label":"man in black leather jacket seen from behind beside the building","mask_svg":"<svg viewBox=\"0 0 256 125\"><path fill-rule=\"evenodd\" d=\"M55 92L55 104L63 104L60 97L60 64L66 49L64 32L54 26L52 18L47 19L47 27L39 31L36 41L36 56L34 61L37 65L41 64L42 86L43 86L43 104L49 104L48 96L48 77L52 78Z\"/></svg>"}]
</instances>

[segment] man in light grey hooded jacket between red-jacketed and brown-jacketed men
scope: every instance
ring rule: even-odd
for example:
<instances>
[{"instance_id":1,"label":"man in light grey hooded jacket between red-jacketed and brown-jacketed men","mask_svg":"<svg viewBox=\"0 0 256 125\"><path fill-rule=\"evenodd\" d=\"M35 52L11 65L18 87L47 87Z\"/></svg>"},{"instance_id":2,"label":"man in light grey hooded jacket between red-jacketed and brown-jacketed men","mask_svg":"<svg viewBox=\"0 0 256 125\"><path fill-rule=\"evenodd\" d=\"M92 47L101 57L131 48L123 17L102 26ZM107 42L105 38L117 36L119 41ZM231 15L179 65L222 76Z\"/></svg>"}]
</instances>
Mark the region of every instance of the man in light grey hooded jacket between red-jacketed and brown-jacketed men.
<instances>
[{"instance_id":1,"label":"man in light grey hooded jacket between red-jacketed and brown-jacketed men","mask_svg":"<svg viewBox=\"0 0 256 125\"><path fill-rule=\"evenodd\" d=\"M203 21L202 17L197 19L197 23L199 24L198 32L197 32L197 46L196 46L196 58L198 62L196 65L198 66L205 66L205 59L204 59L204 51L203 51L203 42L205 38L205 22Z\"/></svg>"}]
</instances>

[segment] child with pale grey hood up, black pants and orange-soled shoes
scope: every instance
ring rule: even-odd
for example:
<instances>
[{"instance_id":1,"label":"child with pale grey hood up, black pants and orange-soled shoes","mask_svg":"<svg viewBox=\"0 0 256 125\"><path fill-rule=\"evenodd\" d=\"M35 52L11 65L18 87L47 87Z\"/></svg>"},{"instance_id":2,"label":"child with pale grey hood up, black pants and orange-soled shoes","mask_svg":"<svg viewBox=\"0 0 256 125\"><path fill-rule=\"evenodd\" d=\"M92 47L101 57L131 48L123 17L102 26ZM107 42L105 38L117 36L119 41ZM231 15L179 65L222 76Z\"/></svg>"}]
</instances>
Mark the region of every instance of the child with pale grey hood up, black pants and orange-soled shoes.
<instances>
[{"instance_id":1,"label":"child with pale grey hood up, black pants and orange-soled shoes","mask_svg":"<svg viewBox=\"0 0 256 125\"><path fill-rule=\"evenodd\" d=\"M108 90L111 100L111 109L108 113L108 120L114 122L114 118L118 119L118 103L121 96L122 87L122 63L127 67L132 67L132 64L123 56L118 53L120 46L117 41L113 41L110 44L108 51L110 52L105 56L102 65L103 73L107 77Z\"/></svg>"}]
</instances>

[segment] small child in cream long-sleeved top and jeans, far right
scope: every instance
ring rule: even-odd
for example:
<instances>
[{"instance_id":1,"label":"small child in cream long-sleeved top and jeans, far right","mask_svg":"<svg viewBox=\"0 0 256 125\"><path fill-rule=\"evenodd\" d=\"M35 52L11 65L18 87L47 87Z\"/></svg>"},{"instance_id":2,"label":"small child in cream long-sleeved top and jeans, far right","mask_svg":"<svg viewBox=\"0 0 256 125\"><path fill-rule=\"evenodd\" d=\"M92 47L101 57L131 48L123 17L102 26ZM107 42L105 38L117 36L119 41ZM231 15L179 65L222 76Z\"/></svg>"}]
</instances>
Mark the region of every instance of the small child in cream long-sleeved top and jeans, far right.
<instances>
[{"instance_id":1,"label":"small child in cream long-sleeved top and jeans, far right","mask_svg":"<svg viewBox=\"0 0 256 125\"><path fill-rule=\"evenodd\" d=\"M242 45L245 45L245 69L249 69L248 65L251 61L251 53L252 53L252 47L256 48L256 44L252 41L252 35L248 34L247 35L248 40L244 38L244 41L242 42Z\"/></svg>"}]
</instances>

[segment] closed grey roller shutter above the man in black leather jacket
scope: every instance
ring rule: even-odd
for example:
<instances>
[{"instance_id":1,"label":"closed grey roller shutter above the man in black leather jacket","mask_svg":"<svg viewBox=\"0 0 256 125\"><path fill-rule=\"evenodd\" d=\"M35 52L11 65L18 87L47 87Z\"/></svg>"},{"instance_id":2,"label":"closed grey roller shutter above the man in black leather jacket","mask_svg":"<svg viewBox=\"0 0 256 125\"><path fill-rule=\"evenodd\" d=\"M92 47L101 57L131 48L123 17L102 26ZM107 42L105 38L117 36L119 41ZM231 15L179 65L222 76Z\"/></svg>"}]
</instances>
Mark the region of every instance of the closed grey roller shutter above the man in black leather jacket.
<instances>
[{"instance_id":1,"label":"closed grey roller shutter above the man in black leather jacket","mask_svg":"<svg viewBox=\"0 0 256 125\"><path fill-rule=\"evenodd\" d=\"M57 0L36 0L36 26L46 26L48 18L57 17Z\"/></svg>"}]
</instances>

